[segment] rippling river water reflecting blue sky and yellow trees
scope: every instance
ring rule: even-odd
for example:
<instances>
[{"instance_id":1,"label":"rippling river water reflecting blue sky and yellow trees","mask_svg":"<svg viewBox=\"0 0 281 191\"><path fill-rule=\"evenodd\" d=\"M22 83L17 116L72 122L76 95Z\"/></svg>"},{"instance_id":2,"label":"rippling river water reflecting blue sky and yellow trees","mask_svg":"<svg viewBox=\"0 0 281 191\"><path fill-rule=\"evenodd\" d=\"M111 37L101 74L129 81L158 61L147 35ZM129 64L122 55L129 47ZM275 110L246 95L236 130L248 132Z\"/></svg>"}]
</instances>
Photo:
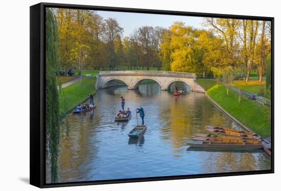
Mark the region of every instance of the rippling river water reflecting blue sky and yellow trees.
<instances>
[{"instance_id":1,"label":"rippling river water reflecting blue sky and yellow trees","mask_svg":"<svg viewBox=\"0 0 281 191\"><path fill-rule=\"evenodd\" d=\"M92 181L157 176L256 171L271 168L263 152L186 151L186 141L204 133L205 125L238 129L203 93L191 92L177 82L186 95L174 97L157 83L142 83L138 90L112 87L94 97L97 109L68 115L61 126L58 182ZM128 123L114 122L116 111L130 108ZM147 131L140 140L127 133L137 124L135 108L145 110ZM138 116L139 120L139 116ZM50 166L46 165L50 183Z\"/></svg>"}]
</instances>

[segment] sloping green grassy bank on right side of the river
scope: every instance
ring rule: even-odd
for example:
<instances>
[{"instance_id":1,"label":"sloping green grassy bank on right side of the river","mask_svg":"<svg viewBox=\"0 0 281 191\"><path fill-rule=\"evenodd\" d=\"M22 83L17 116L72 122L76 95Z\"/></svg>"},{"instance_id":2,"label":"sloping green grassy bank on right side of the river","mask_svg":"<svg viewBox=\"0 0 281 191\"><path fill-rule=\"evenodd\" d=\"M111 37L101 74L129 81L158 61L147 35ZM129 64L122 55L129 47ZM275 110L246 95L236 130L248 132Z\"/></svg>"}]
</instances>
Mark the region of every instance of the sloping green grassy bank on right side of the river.
<instances>
[{"instance_id":1,"label":"sloping green grassy bank on right side of the river","mask_svg":"<svg viewBox=\"0 0 281 191\"><path fill-rule=\"evenodd\" d=\"M205 88L206 94L230 115L260 136L270 136L271 124L268 122L269 108L267 106L260 105L244 97L241 97L241 102L239 103L239 95L236 92L229 90L229 95L227 96L226 87L220 84L217 89L216 81L214 80L198 79L197 82Z\"/></svg>"}]
</instances>

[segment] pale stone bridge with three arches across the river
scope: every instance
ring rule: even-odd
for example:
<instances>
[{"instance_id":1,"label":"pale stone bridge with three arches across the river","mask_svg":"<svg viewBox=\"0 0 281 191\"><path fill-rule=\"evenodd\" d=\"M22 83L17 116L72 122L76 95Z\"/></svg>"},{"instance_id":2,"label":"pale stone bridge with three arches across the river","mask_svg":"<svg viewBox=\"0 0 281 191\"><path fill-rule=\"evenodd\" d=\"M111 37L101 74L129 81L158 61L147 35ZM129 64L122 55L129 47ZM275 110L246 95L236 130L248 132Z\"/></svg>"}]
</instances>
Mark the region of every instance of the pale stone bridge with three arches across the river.
<instances>
[{"instance_id":1,"label":"pale stone bridge with three arches across the river","mask_svg":"<svg viewBox=\"0 0 281 191\"><path fill-rule=\"evenodd\" d=\"M182 81L190 86L191 91L205 92L205 90L196 83L195 73L185 72L167 72L167 71L144 71L144 70L129 70L129 71L100 71L97 75L96 90L104 89L111 86L120 85L115 80L123 81L128 90L138 88L138 84L144 79L156 81L161 90L169 90L171 84L175 81Z\"/></svg>"}]
</instances>

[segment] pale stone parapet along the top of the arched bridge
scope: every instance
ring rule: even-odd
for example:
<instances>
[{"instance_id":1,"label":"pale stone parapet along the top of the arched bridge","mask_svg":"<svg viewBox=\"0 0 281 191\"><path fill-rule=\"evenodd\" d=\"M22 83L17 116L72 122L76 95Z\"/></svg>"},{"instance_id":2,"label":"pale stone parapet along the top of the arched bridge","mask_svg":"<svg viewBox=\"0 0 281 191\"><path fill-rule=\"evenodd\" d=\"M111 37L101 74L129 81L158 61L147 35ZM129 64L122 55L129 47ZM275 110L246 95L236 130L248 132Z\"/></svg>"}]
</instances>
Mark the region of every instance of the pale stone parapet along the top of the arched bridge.
<instances>
[{"instance_id":1,"label":"pale stone parapet along the top of the arched bridge","mask_svg":"<svg viewBox=\"0 0 281 191\"><path fill-rule=\"evenodd\" d=\"M124 71L100 71L100 76L157 76L157 77L178 77L196 79L195 73L148 71L148 70L124 70Z\"/></svg>"}]
</instances>

